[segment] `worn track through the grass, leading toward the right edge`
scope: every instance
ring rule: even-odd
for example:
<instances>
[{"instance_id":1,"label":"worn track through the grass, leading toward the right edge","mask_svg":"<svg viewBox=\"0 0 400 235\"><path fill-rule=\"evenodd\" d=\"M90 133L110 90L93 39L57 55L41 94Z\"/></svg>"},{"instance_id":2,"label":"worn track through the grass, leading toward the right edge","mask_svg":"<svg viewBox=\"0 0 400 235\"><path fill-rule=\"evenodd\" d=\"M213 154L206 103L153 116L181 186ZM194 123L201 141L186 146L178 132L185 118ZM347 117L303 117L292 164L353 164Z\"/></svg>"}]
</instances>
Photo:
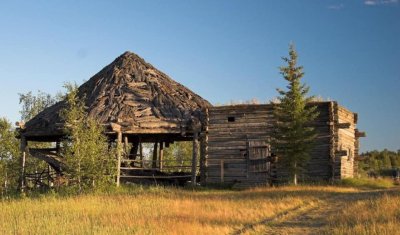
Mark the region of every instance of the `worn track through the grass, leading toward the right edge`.
<instances>
[{"instance_id":1,"label":"worn track through the grass, leading toward the right edge","mask_svg":"<svg viewBox=\"0 0 400 235\"><path fill-rule=\"evenodd\" d=\"M400 188L384 190L361 190L351 193L332 193L312 200L275 217L244 226L233 234L329 234L331 216L338 215L349 205L359 200L369 200L383 194L398 192Z\"/></svg>"}]
</instances>

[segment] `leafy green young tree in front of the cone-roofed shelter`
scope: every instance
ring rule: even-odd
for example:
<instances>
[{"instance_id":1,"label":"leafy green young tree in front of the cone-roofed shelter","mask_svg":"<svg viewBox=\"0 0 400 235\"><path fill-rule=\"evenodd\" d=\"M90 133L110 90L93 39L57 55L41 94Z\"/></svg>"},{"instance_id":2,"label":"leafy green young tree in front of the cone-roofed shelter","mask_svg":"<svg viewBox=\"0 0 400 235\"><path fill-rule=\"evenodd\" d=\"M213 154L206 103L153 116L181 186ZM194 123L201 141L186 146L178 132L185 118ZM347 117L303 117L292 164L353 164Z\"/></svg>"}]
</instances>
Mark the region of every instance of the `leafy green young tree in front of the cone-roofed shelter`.
<instances>
[{"instance_id":1,"label":"leafy green young tree in front of the cone-roofed shelter","mask_svg":"<svg viewBox=\"0 0 400 235\"><path fill-rule=\"evenodd\" d=\"M87 116L76 84L65 87L67 107L61 116L68 136L63 142L66 173L76 182L79 192L108 186L115 180L115 154L109 149L103 127Z\"/></svg>"}]
</instances>

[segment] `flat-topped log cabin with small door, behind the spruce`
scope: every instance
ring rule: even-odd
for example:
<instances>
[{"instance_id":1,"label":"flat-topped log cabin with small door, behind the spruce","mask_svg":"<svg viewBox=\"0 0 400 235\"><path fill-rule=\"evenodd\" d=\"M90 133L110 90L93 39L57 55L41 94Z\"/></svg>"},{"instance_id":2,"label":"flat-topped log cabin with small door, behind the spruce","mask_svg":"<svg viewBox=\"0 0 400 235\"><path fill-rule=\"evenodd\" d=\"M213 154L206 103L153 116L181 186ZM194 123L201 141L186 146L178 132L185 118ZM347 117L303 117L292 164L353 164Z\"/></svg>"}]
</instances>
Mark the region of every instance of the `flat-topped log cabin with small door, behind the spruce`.
<instances>
[{"instance_id":1,"label":"flat-topped log cabin with small door, behind the spruce","mask_svg":"<svg viewBox=\"0 0 400 235\"><path fill-rule=\"evenodd\" d=\"M353 177L358 156L357 114L337 102L316 102L318 133L304 177L327 181ZM207 111L206 183L238 187L280 181L285 169L269 146L273 131L273 104L211 107Z\"/></svg>"}]
</instances>

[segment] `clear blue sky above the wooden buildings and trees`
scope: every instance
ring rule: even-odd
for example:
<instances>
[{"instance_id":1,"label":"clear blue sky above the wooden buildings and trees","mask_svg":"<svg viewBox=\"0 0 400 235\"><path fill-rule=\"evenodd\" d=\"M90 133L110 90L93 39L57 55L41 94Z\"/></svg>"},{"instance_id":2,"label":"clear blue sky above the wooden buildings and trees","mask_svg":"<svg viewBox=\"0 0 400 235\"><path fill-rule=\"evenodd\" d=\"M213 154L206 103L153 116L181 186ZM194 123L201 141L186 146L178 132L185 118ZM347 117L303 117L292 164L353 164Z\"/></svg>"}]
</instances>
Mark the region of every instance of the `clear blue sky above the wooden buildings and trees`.
<instances>
[{"instance_id":1,"label":"clear blue sky above the wooden buildings and trees","mask_svg":"<svg viewBox=\"0 0 400 235\"><path fill-rule=\"evenodd\" d=\"M398 0L7 1L0 29L13 122L18 93L55 94L128 50L211 103L265 102L294 42L310 93L359 113L362 150L400 149Z\"/></svg>"}]
</instances>

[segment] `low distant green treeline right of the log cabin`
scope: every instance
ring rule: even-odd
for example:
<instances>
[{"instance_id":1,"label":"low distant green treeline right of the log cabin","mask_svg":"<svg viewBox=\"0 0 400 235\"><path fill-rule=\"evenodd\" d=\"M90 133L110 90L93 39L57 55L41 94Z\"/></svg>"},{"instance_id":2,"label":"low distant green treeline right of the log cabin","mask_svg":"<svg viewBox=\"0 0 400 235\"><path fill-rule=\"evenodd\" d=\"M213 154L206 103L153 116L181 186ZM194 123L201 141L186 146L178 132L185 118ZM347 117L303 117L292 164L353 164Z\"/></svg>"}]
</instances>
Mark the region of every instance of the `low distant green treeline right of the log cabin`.
<instances>
[{"instance_id":1,"label":"low distant green treeline right of the log cabin","mask_svg":"<svg viewBox=\"0 0 400 235\"><path fill-rule=\"evenodd\" d=\"M369 176L393 176L400 168L400 150L370 151L360 155L359 172Z\"/></svg>"}]
</instances>

